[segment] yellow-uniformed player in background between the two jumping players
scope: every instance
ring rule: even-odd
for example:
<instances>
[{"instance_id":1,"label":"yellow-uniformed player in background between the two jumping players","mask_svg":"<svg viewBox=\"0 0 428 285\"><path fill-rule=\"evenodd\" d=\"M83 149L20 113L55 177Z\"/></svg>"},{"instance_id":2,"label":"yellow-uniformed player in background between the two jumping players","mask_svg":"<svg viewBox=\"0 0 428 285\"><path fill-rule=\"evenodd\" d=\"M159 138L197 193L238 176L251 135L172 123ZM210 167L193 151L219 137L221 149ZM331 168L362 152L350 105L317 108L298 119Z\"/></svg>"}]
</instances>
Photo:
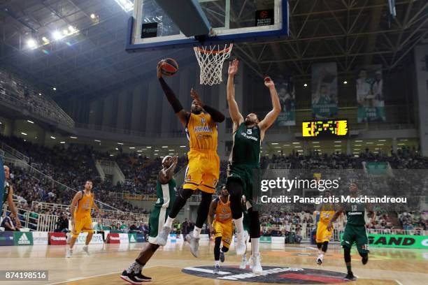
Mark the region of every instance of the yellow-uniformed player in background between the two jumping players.
<instances>
[{"instance_id":1,"label":"yellow-uniformed player in background between the two jumping players","mask_svg":"<svg viewBox=\"0 0 428 285\"><path fill-rule=\"evenodd\" d=\"M213 217L215 217L214 221ZM220 196L211 202L210 212L208 214L208 226L210 228L211 235L213 235L215 239L215 266L213 273L219 274L220 261L224 262L224 252L229 251L233 231L229 191L227 191L226 185L223 185ZM223 247L220 250L221 243L223 244Z\"/></svg>"}]
</instances>

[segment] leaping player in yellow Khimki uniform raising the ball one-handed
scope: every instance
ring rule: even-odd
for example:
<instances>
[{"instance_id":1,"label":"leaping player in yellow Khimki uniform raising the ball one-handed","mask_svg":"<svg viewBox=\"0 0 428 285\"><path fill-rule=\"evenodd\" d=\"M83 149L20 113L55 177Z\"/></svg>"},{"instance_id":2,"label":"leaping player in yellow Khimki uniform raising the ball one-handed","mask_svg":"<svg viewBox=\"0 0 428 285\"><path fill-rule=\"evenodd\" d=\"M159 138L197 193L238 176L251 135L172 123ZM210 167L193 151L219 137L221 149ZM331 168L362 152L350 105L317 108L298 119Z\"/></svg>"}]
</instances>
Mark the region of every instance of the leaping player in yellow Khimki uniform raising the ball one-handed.
<instances>
[{"instance_id":1,"label":"leaping player in yellow Khimki uniform raising the ball one-handed","mask_svg":"<svg viewBox=\"0 0 428 285\"><path fill-rule=\"evenodd\" d=\"M189 164L185 173L183 190L178 194L162 231L157 235L157 244L166 244L173 220L176 219L178 212L183 208L187 199L192 196L195 190L199 189L202 198L198 207L194 231L185 237L187 242L190 243L190 251L197 257L199 234L208 216L210 203L220 175L220 159L217 155L217 123L224 121L224 115L220 111L202 103L194 89L190 90L190 96L193 98L192 108L190 112L185 111L172 89L162 78L159 64L157 66L157 78L159 78L164 94L178 119L185 127L190 146L190 152L187 153Z\"/></svg>"}]
</instances>

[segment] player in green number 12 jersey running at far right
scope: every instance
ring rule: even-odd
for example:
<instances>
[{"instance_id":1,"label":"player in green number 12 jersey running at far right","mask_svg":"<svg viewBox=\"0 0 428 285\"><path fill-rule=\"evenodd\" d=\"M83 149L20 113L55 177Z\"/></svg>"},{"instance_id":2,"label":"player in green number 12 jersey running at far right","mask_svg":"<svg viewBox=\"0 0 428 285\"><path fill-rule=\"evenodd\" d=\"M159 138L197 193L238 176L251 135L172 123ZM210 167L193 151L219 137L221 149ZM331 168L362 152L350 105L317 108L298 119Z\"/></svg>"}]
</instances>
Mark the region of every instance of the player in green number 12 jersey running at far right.
<instances>
[{"instance_id":1,"label":"player in green number 12 jersey running at far right","mask_svg":"<svg viewBox=\"0 0 428 285\"><path fill-rule=\"evenodd\" d=\"M350 197L358 197L357 184L351 183L349 187ZM338 211L334 214L333 218L327 225L327 230L331 231L333 223L343 213L346 212L346 226L342 237L343 256L345 258L346 268L348 275L345 279L355 280L355 276L351 270L351 256L350 250L352 244L357 244L357 250L359 255L362 257L362 264L366 264L369 261L369 238L366 233L366 220L364 219L366 210L369 212L371 219L375 219L375 214L371 209L371 205L364 203L348 203L341 205Z\"/></svg>"}]
</instances>

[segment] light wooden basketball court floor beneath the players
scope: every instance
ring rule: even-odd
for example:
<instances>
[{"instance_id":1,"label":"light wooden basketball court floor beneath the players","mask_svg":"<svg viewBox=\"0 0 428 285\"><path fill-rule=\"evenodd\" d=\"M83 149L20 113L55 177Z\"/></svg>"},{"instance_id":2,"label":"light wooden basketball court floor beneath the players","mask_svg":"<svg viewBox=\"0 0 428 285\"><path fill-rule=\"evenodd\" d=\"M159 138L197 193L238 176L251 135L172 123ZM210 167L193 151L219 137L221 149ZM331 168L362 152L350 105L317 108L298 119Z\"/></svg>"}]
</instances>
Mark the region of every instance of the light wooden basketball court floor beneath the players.
<instances>
[{"instance_id":1,"label":"light wooden basketball court floor beneath the players","mask_svg":"<svg viewBox=\"0 0 428 285\"><path fill-rule=\"evenodd\" d=\"M136 258L145 244L91 245L91 255L76 246L72 258L64 258L64 246L0 247L2 270L48 270L48 282L0 282L0 284L127 284L120 272ZM316 247L311 244L261 244L262 265L309 268L341 272L345 265L341 248L331 244L322 265L315 264ZM241 258L231 247L222 265L238 265ZM153 278L151 284L265 284L226 281L196 277L183 273L183 268L213 265L213 243L201 244L199 258L190 254L188 244L167 244L155 253L143 273ZM428 284L428 251L422 249L371 248L369 263L362 265L357 252L352 251L352 270L358 277L350 284ZM304 283L303 283L304 284Z\"/></svg>"}]
</instances>

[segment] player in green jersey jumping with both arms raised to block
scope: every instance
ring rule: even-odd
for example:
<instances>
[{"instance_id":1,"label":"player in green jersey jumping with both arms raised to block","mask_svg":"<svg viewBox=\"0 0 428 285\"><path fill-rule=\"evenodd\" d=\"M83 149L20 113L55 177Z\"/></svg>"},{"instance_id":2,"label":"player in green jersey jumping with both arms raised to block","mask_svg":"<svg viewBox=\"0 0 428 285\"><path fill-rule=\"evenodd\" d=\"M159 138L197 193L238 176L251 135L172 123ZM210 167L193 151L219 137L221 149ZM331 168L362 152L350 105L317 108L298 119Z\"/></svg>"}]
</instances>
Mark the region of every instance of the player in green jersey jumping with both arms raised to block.
<instances>
[{"instance_id":1,"label":"player in green jersey jumping with both arms raised to block","mask_svg":"<svg viewBox=\"0 0 428 285\"><path fill-rule=\"evenodd\" d=\"M229 158L229 170L227 177L227 189L230 193L231 212L236 226L236 254L245 253L245 231L243 228L243 214L241 208L241 196L252 202L252 191L255 182L252 177L253 170L260 168L260 145L264 139L264 133L275 122L281 112L280 101L275 85L271 78L264 78L264 85L269 88L272 110L259 120L255 113L248 114L245 119L239 111L235 100L234 77L238 72L238 59L229 63L229 78L227 79L227 103L233 126L234 144ZM260 221L259 212L248 207L250 216L250 238L252 250L252 272L262 273L259 254Z\"/></svg>"}]
</instances>

